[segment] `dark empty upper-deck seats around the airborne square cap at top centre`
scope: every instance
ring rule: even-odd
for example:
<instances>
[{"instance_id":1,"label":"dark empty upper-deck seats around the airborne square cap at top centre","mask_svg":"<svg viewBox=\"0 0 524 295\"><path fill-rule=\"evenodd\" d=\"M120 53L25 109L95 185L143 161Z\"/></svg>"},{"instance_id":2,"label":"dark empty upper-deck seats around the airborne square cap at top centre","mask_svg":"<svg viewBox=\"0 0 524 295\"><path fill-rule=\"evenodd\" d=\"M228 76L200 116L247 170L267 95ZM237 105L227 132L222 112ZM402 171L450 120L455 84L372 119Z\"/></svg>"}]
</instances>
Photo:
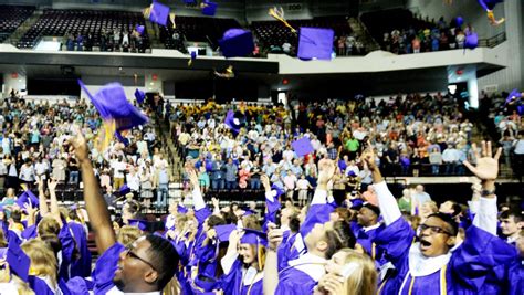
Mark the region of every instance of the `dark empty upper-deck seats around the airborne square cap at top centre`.
<instances>
[{"instance_id":1,"label":"dark empty upper-deck seats around the airborne square cap at top centre","mask_svg":"<svg viewBox=\"0 0 524 295\"><path fill-rule=\"evenodd\" d=\"M332 28L335 36L348 35L352 33L346 17L322 17L311 20L290 20L289 23L298 30L300 27ZM270 52L279 53L284 43L290 43L297 48L298 36L291 32L279 21L255 21L251 24L260 48L268 49Z\"/></svg>"}]
</instances>

